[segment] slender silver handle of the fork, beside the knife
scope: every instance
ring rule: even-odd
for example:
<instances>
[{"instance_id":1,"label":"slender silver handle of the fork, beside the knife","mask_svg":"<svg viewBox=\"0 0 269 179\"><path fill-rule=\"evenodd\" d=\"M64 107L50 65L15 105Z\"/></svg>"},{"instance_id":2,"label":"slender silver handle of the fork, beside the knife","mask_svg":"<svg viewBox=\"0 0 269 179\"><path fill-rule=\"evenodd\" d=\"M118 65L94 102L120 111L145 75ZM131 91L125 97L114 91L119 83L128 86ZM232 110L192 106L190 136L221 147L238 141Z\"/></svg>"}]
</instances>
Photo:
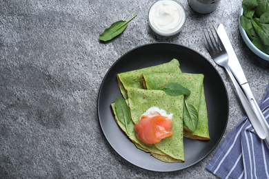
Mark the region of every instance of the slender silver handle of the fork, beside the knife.
<instances>
[{"instance_id":1,"label":"slender silver handle of the fork, beside the knife","mask_svg":"<svg viewBox=\"0 0 269 179\"><path fill-rule=\"evenodd\" d=\"M235 76L232 75L230 68L226 67L225 69L228 72L228 74L232 80L232 83L235 86L235 89L237 90L237 94L238 94L240 101L243 105L243 108L245 109L245 112L250 120L250 123L252 124L252 127L255 129L256 134L259 136L259 138L265 139L266 138L266 131L264 131L263 126L261 125L257 114L255 113L254 109L250 105L250 102L248 101L248 98L245 96L241 87L237 83ZM268 144L269 143L266 142L266 145L268 145ZM269 145L268 145L268 148L269 148Z\"/></svg>"}]
</instances>

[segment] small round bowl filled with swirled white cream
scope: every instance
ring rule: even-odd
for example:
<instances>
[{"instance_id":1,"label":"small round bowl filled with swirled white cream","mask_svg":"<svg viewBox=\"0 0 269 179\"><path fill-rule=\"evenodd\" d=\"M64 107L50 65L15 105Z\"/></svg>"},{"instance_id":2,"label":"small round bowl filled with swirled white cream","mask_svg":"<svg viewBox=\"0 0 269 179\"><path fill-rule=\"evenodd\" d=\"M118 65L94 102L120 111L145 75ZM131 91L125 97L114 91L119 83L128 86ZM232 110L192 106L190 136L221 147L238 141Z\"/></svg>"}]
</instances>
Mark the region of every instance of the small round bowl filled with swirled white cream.
<instances>
[{"instance_id":1,"label":"small round bowl filled with swirled white cream","mask_svg":"<svg viewBox=\"0 0 269 179\"><path fill-rule=\"evenodd\" d=\"M176 0L159 0L148 12L150 28L162 36L175 35L186 22L186 11Z\"/></svg>"}]
</instances>

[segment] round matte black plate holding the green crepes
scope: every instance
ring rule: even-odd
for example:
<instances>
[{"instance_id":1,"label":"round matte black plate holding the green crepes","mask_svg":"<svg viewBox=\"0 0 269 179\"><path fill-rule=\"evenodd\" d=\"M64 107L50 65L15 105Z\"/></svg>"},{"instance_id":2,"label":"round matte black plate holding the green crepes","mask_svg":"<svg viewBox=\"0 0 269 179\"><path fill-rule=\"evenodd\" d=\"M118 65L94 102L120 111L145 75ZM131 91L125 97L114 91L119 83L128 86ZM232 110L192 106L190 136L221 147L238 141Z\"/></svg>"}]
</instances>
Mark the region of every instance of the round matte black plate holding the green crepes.
<instances>
[{"instance_id":1,"label":"round matte black plate holding the green crepes","mask_svg":"<svg viewBox=\"0 0 269 179\"><path fill-rule=\"evenodd\" d=\"M115 122L110 104L121 96L117 85L118 73L159 65L172 59L179 60L182 72L199 73L205 76L204 89L208 107L210 140L184 138L185 162L166 163L135 147ZM103 134L121 157L143 169L177 171L195 165L215 149L228 121L228 96L219 73L201 54L181 45L152 43L131 50L110 67L101 83L97 110Z\"/></svg>"}]
</instances>

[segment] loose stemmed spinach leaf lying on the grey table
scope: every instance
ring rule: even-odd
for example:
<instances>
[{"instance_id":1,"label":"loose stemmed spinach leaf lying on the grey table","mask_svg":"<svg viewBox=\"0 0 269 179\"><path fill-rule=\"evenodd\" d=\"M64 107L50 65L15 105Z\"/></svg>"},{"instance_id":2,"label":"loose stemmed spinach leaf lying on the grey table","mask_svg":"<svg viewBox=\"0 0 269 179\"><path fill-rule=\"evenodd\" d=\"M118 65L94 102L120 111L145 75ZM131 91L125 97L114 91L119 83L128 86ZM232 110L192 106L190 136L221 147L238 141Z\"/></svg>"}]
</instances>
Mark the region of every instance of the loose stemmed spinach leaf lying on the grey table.
<instances>
[{"instance_id":1,"label":"loose stemmed spinach leaf lying on the grey table","mask_svg":"<svg viewBox=\"0 0 269 179\"><path fill-rule=\"evenodd\" d=\"M110 41L115 36L121 34L127 28L128 23L136 16L137 14L131 17L128 21L117 21L112 23L112 25L103 32L103 34L99 35L99 39L101 41Z\"/></svg>"}]
</instances>

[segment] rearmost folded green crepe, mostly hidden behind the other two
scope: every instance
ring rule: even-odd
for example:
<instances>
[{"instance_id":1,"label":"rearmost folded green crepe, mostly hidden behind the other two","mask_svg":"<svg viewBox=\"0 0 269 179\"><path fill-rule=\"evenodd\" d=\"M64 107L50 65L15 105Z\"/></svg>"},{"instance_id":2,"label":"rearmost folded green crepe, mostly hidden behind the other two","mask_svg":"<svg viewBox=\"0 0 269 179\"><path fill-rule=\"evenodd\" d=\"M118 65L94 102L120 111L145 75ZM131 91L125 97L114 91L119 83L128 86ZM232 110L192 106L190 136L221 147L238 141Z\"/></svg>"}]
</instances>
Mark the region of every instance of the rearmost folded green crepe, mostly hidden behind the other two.
<instances>
[{"instance_id":1,"label":"rearmost folded green crepe, mostly hidden behind the other two","mask_svg":"<svg viewBox=\"0 0 269 179\"><path fill-rule=\"evenodd\" d=\"M163 63L161 65L156 65L152 67L145 67L140 70L132 70L130 72L123 72L117 74L117 81L119 89L123 98L127 99L126 88L127 87L137 87L141 88L140 76L141 74L150 74L150 73L163 73L163 72L181 72L179 69L179 61L177 59L172 59L168 63Z\"/></svg>"}]
</instances>

